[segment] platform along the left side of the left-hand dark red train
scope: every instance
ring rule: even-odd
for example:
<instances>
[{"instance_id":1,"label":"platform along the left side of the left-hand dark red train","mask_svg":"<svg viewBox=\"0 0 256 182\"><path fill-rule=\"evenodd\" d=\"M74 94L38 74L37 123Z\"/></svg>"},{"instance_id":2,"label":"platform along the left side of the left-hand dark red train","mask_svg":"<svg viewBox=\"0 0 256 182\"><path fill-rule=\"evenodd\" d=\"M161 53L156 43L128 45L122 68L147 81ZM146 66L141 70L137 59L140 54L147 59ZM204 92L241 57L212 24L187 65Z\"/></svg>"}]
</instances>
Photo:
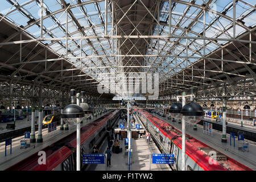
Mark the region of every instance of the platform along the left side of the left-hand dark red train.
<instances>
[{"instance_id":1,"label":"platform along the left side of the left-hand dark red train","mask_svg":"<svg viewBox=\"0 0 256 182\"><path fill-rule=\"evenodd\" d=\"M102 115L105 115L108 113L110 113L110 111L106 113L102 113L97 117L93 117L92 119L89 119L88 122L92 122L102 117ZM81 127L87 125L88 122L81 123ZM43 129L42 130L43 143L30 143L30 147L27 147L27 148L20 148L20 140L24 139L24 135L21 137L13 138L11 154L10 154L10 146L7 146L6 156L5 156L5 142L1 142L0 143L0 171L3 171L13 166L14 164L26 159L28 156L31 156L32 154L35 154L36 152L43 150L43 148L48 147L52 143L57 142L61 138L64 138L69 134L72 134L73 132L76 132L76 126L71 126L71 125L69 125L69 130L60 130L60 126L57 126L57 129L55 131L52 131L51 133L48 133L47 128ZM35 132L35 135L37 138L38 131Z\"/></svg>"}]
</instances>

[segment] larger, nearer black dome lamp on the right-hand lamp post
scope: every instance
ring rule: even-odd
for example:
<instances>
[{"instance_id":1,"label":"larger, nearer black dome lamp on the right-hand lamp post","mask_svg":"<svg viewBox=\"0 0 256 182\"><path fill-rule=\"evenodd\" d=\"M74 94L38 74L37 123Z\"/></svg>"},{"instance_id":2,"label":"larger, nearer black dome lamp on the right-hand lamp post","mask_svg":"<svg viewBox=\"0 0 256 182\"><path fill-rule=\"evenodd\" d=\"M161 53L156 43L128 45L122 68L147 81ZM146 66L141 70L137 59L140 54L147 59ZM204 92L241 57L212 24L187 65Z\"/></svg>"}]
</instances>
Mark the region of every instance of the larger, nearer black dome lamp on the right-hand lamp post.
<instances>
[{"instance_id":1,"label":"larger, nearer black dome lamp on the right-hand lamp post","mask_svg":"<svg viewBox=\"0 0 256 182\"><path fill-rule=\"evenodd\" d=\"M204 110L196 102L191 102L183 106L181 112L183 119L188 123L198 123L203 119Z\"/></svg>"}]
</instances>

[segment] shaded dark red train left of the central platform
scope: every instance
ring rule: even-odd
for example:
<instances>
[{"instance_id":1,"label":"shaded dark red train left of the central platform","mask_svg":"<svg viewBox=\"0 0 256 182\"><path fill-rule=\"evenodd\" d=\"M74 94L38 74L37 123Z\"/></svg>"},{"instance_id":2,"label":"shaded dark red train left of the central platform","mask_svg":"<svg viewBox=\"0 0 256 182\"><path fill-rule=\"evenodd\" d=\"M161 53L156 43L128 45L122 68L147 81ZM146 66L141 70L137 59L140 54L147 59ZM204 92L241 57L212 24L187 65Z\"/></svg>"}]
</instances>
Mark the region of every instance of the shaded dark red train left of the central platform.
<instances>
[{"instance_id":1,"label":"shaded dark red train left of the central platform","mask_svg":"<svg viewBox=\"0 0 256 182\"><path fill-rule=\"evenodd\" d=\"M81 156L82 154L92 153L94 144L98 144L101 140L104 140L108 136L108 132L111 134L111 128L117 121L120 110L112 111L109 114L96 119L84 127L81 127ZM108 130L107 130L108 129ZM46 152L46 164L39 164L38 153L29 156L21 162L7 168L11 171L73 171L76 170L76 131L67 137L60 139L59 141L51 144L46 148L43 148ZM85 166L82 165L81 169Z\"/></svg>"}]
</instances>

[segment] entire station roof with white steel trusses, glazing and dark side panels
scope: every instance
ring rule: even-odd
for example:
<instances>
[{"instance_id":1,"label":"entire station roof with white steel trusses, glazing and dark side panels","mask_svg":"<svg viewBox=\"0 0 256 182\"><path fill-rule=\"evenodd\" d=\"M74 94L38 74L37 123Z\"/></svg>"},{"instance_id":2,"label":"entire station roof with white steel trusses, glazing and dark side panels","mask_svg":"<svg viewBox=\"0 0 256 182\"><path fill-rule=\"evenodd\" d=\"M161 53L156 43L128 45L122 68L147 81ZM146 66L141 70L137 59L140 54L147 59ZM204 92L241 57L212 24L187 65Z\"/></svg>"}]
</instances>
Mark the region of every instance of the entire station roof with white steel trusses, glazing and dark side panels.
<instances>
[{"instance_id":1,"label":"entire station roof with white steel trusses, glazing and dark side panels","mask_svg":"<svg viewBox=\"0 0 256 182\"><path fill-rule=\"evenodd\" d=\"M253 96L255 9L254 0L2 0L0 93L113 98L97 86L114 72L158 74L160 97L191 87L197 97Z\"/></svg>"}]
</instances>

